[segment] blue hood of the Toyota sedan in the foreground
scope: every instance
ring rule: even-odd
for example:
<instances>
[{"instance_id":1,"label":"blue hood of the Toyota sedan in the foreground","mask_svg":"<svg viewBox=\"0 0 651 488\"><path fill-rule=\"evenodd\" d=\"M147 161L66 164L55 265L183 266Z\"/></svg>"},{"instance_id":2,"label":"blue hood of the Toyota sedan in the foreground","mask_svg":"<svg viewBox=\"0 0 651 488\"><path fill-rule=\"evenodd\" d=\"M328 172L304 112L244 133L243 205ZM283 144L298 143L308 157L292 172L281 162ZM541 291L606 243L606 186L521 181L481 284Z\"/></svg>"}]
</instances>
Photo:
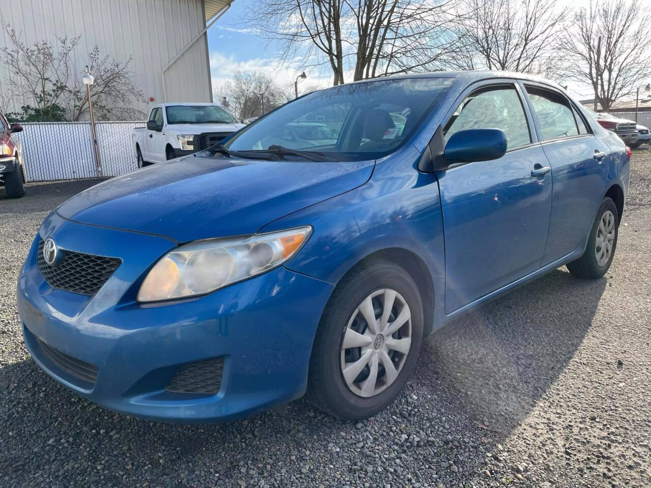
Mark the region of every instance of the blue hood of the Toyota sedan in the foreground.
<instances>
[{"instance_id":1,"label":"blue hood of the Toyota sedan in the foreground","mask_svg":"<svg viewBox=\"0 0 651 488\"><path fill-rule=\"evenodd\" d=\"M279 217L363 185L373 166L373 161L186 156L90 187L57 213L179 243L253 234Z\"/></svg>"}]
</instances>

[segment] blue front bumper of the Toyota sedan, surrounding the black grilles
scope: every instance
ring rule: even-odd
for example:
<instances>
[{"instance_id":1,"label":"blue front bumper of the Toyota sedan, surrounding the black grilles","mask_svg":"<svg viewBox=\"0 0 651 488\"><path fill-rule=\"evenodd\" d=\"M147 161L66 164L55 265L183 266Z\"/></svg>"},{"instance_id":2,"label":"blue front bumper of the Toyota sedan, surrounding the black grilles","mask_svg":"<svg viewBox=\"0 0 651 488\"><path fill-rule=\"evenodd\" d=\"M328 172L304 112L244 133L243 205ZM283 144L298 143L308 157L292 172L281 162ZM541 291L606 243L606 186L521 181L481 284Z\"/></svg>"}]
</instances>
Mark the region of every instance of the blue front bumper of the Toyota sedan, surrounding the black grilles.
<instances>
[{"instance_id":1,"label":"blue front bumper of the Toyota sedan, surrounding the black grilles","mask_svg":"<svg viewBox=\"0 0 651 488\"><path fill-rule=\"evenodd\" d=\"M171 241L57 215L39 232L62 249L123 260L87 297L50 288L36 267L38 238L33 243L18 279L23 336L38 365L59 383L120 413L171 422L231 420L305 392L312 340L331 284L280 267L202 297L139 304L133 297L143 274L174 247ZM39 340L96 365L95 383L59 367ZM217 357L224 360L219 393L165 390L182 366Z\"/></svg>"}]
</instances>

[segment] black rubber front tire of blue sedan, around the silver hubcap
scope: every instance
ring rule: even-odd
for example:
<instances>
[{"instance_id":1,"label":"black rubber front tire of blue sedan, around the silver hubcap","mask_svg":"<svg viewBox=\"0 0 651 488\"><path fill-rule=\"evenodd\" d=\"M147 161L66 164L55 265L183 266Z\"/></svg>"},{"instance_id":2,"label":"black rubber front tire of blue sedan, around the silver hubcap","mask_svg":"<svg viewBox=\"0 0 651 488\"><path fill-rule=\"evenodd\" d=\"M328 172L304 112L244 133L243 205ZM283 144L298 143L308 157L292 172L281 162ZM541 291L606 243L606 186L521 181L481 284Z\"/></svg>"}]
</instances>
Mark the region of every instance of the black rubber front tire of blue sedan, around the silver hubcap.
<instances>
[{"instance_id":1,"label":"black rubber front tire of blue sedan, around the silver hubcap","mask_svg":"<svg viewBox=\"0 0 651 488\"><path fill-rule=\"evenodd\" d=\"M396 380L383 392L371 398L355 395L341 372L340 353L343 334L353 311L370 293L391 288L405 299L411 312L411 348ZM389 405L400 393L411 375L422 344L422 303L416 284L402 268L389 262L379 262L357 275L338 290L328 307L332 312L320 327L325 327L319 368L323 368L324 393L335 414L344 418L367 418Z\"/></svg>"}]
</instances>

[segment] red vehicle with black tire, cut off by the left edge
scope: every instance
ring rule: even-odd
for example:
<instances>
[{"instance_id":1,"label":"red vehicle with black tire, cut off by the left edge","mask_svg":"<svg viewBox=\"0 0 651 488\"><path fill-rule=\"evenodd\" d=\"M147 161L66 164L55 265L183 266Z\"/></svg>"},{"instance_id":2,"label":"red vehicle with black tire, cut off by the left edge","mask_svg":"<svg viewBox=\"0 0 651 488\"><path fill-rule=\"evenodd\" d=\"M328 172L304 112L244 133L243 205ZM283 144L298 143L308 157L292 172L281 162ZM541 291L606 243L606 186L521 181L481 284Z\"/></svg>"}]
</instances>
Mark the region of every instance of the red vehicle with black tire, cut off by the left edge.
<instances>
[{"instance_id":1,"label":"red vehicle with black tire, cut off by the left edge","mask_svg":"<svg viewBox=\"0 0 651 488\"><path fill-rule=\"evenodd\" d=\"M20 198L25 195L25 170L20 141L14 136L23 130L21 124L9 124L0 113L0 185L5 186L7 197Z\"/></svg>"}]
</instances>

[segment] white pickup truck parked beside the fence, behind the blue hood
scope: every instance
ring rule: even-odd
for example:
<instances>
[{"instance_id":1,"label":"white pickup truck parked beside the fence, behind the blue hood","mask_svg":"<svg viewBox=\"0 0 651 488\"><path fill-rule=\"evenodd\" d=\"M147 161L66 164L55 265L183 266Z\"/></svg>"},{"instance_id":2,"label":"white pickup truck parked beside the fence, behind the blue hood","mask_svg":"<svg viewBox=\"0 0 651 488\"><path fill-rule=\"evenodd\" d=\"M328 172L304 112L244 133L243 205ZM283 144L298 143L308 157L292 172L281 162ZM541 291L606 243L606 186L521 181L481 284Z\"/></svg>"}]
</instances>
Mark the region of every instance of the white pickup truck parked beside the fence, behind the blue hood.
<instances>
[{"instance_id":1,"label":"white pickup truck parked beside the fence, behind the blue hood","mask_svg":"<svg viewBox=\"0 0 651 488\"><path fill-rule=\"evenodd\" d=\"M133 129L133 150L142 168L209 148L243 127L217 103L161 103L146 127Z\"/></svg>"}]
</instances>

